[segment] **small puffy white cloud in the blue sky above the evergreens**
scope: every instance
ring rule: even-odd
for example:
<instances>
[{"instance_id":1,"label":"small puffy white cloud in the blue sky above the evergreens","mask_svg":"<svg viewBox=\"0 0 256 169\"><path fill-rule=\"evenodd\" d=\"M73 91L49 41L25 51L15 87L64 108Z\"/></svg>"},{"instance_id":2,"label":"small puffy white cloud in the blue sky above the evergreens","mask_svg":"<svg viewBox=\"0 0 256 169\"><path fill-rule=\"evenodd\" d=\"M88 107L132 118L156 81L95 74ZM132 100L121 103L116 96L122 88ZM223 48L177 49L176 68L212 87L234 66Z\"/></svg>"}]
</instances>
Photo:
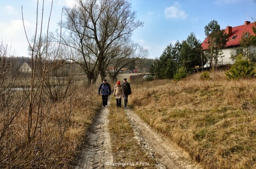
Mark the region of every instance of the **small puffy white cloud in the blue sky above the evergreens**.
<instances>
[{"instance_id":1,"label":"small puffy white cloud in the blue sky above the evergreens","mask_svg":"<svg viewBox=\"0 0 256 169\"><path fill-rule=\"evenodd\" d=\"M165 17L186 19L186 12L184 10L181 10L179 6L179 3L176 2L174 6L166 7L164 10Z\"/></svg>"}]
</instances>

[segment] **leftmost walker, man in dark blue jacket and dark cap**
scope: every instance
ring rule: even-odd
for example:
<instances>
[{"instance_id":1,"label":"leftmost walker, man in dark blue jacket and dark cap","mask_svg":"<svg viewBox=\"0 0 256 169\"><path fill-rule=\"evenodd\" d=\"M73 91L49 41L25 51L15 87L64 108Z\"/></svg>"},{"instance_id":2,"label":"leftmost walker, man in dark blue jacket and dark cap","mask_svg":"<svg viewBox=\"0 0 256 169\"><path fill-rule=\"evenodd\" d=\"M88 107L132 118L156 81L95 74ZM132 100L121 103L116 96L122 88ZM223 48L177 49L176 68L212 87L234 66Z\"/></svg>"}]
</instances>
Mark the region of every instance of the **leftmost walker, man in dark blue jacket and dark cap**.
<instances>
[{"instance_id":1,"label":"leftmost walker, man in dark blue jacket and dark cap","mask_svg":"<svg viewBox=\"0 0 256 169\"><path fill-rule=\"evenodd\" d=\"M99 85L98 94L100 94L100 91L103 104L102 107L104 108L108 106L108 95L111 94L111 87L106 79L104 79L103 82Z\"/></svg>"}]
</instances>

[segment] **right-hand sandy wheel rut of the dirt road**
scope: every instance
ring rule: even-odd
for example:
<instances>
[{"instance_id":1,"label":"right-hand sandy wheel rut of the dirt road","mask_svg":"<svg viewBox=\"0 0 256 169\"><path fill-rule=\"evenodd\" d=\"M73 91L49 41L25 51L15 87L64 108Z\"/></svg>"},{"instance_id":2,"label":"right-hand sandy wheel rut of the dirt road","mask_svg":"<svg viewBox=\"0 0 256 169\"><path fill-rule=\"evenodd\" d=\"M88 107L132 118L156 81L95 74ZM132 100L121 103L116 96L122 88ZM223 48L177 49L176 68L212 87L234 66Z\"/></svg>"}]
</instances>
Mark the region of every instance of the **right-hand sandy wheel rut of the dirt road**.
<instances>
[{"instance_id":1,"label":"right-hand sandy wheel rut of the dirt road","mask_svg":"<svg viewBox=\"0 0 256 169\"><path fill-rule=\"evenodd\" d=\"M138 143L157 161L156 168L203 168L169 138L153 130L130 107L125 108L125 113L132 124Z\"/></svg>"}]
</instances>

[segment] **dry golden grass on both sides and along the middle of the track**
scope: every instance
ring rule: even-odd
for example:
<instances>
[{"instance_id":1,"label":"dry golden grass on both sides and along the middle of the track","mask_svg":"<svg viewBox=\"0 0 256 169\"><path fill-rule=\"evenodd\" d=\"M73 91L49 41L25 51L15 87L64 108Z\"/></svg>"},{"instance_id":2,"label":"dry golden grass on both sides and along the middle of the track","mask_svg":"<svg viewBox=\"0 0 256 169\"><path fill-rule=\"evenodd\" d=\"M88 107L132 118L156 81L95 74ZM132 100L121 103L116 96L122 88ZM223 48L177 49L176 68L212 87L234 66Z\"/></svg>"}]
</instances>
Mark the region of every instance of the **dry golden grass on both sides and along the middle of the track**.
<instances>
[{"instance_id":1,"label":"dry golden grass on both sides and along the middle of the track","mask_svg":"<svg viewBox=\"0 0 256 169\"><path fill-rule=\"evenodd\" d=\"M122 83L123 78L127 78L130 82L130 75L120 74L117 79ZM12 100L9 107L1 108L4 114L0 123L0 168L69 168L83 143L84 134L101 109L101 97L97 95L101 80L87 87L86 78L83 78L78 77L80 82L71 93L72 99L50 103L47 97L42 98L43 106L36 107L38 111L34 109L32 114L33 124L37 126L32 126L36 137L29 148L25 147L28 102L24 102L15 118L14 108L18 107L19 100ZM116 82L109 83L114 88ZM181 81L138 79L130 83L133 94L128 104L132 104L134 111L205 168L256 168L255 79L227 81L224 72L220 71L215 83L213 78L200 80L200 74ZM18 94L22 96L22 92ZM16 96L9 96L13 97ZM37 103L35 100L35 105ZM121 154L131 149L139 152L140 147L130 139L134 135L126 115L114 106L110 109L109 119L115 124L110 127L115 145L112 153L121 160ZM14 120L8 125L12 118ZM115 134L121 137L113 137ZM139 156L127 153L126 158L154 163L141 153Z\"/></svg>"}]
</instances>

